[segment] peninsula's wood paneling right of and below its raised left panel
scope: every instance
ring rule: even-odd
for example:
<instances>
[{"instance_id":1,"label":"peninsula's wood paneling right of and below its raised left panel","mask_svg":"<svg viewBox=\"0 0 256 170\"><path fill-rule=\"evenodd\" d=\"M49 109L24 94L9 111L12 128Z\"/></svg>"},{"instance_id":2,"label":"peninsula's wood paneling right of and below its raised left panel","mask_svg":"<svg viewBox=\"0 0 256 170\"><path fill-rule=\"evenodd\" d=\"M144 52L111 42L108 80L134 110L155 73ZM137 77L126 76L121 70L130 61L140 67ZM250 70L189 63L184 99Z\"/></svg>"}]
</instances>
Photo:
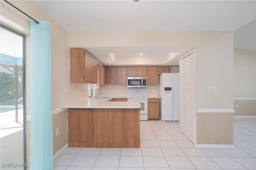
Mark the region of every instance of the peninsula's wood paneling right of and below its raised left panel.
<instances>
[{"instance_id":1,"label":"peninsula's wood paneling right of and below its raised left panel","mask_svg":"<svg viewBox=\"0 0 256 170\"><path fill-rule=\"evenodd\" d=\"M92 142L68 147L139 148L140 109L92 109L92 134Z\"/></svg>"}]
</instances>

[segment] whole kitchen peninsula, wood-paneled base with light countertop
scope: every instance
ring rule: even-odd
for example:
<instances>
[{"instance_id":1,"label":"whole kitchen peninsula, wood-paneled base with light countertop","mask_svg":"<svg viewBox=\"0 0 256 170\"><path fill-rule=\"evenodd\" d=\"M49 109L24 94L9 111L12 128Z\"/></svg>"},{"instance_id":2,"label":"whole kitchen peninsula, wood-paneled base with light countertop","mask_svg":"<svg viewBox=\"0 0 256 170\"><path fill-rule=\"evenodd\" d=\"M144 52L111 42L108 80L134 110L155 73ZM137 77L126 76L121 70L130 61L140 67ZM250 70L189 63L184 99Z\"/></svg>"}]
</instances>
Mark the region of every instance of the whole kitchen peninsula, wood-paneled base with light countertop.
<instances>
[{"instance_id":1,"label":"whole kitchen peninsula, wood-paneled base with light countertop","mask_svg":"<svg viewBox=\"0 0 256 170\"><path fill-rule=\"evenodd\" d=\"M62 101L68 108L68 147L140 147L140 103L111 99Z\"/></svg>"}]
</instances>

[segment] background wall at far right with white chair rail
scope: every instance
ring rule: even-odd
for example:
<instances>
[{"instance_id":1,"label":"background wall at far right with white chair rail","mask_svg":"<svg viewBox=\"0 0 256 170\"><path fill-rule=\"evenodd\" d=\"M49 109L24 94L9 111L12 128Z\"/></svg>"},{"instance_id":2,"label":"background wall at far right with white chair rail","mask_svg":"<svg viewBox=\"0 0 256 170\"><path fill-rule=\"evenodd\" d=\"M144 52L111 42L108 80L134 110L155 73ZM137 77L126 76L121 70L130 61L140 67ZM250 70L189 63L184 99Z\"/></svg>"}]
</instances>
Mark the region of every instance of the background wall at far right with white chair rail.
<instances>
[{"instance_id":1,"label":"background wall at far right with white chair rail","mask_svg":"<svg viewBox=\"0 0 256 170\"><path fill-rule=\"evenodd\" d=\"M234 48L234 98L235 116L256 116L255 51Z\"/></svg>"}]
</instances>

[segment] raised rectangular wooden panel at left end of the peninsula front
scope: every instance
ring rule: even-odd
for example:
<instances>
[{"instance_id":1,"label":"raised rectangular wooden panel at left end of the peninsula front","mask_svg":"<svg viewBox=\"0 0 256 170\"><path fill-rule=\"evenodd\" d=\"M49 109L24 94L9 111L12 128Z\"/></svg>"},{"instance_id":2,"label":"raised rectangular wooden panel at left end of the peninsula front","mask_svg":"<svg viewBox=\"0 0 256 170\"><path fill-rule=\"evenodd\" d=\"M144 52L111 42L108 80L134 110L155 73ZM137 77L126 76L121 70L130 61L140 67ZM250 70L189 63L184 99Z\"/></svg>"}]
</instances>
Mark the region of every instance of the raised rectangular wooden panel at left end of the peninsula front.
<instances>
[{"instance_id":1,"label":"raised rectangular wooden panel at left end of the peninsula front","mask_svg":"<svg viewBox=\"0 0 256 170\"><path fill-rule=\"evenodd\" d=\"M92 142L92 109L70 109L69 142Z\"/></svg>"}]
</instances>

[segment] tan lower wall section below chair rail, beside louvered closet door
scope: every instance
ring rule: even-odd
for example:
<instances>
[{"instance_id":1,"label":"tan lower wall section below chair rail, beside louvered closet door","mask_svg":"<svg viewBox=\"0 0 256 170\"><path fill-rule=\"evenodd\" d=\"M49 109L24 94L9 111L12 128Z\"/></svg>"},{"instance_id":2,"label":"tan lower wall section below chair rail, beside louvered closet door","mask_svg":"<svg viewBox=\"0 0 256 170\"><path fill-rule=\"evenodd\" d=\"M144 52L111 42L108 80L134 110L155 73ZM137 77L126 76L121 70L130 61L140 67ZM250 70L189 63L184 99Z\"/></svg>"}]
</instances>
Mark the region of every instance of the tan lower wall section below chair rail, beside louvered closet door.
<instances>
[{"instance_id":1,"label":"tan lower wall section below chair rail, beside louvered closet door","mask_svg":"<svg viewBox=\"0 0 256 170\"><path fill-rule=\"evenodd\" d=\"M197 113L197 144L233 144L233 113Z\"/></svg>"}]
</instances>

